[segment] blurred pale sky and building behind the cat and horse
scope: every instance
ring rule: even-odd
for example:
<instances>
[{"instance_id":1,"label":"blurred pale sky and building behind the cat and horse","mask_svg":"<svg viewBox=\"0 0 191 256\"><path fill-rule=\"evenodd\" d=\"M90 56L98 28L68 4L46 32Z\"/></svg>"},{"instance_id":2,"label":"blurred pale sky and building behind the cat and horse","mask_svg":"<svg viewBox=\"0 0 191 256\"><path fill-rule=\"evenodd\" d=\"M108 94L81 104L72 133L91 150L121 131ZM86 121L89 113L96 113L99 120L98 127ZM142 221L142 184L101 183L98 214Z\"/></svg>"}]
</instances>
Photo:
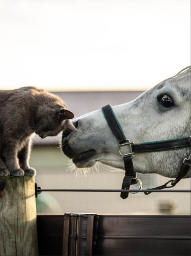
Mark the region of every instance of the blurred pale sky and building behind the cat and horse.
<instances>
[{"instance_id":1,"label":"blurred pale sky and building behind the cat and horse","mask_svg":"<svg viewBox=\"0 0 191 256\"><path fill-rule=\"evenodd\" d=\"M37 86L78 117L122 104L190 65L190 0L1 0L0 89ZM120 189L123 171L68 170L60 136L33 138L30 165L42 188ZM141 174L143 188L168 178ZM133 187L132 187L133 188ZM189 189L190 179L177 189ZM38 214L190 214L190 194L47 193Z\"/></svg>"}]
</instances>

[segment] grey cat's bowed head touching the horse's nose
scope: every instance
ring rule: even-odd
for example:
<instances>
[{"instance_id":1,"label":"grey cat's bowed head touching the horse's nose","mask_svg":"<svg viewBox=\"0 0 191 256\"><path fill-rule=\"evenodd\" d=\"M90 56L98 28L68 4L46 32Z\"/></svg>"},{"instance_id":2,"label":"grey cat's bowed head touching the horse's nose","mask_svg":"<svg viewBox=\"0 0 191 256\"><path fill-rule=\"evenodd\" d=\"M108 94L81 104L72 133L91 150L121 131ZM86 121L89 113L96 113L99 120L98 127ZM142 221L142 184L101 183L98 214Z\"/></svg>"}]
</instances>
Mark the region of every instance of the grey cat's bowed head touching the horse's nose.
<instances>
[{"instance_id":1,"label":"grey cat's bowed head touching the horse's nose","mask_svg":"<svg viewBox=\"0 0 191 256\"><path fill-rule=\"evenodd\" d=\"M44 139L48 136L56 136L66 129L77 131L69 120L72 118L74 114L66 108L40 107L35 117L35 133Z\"/></svg>"}]
</instances>

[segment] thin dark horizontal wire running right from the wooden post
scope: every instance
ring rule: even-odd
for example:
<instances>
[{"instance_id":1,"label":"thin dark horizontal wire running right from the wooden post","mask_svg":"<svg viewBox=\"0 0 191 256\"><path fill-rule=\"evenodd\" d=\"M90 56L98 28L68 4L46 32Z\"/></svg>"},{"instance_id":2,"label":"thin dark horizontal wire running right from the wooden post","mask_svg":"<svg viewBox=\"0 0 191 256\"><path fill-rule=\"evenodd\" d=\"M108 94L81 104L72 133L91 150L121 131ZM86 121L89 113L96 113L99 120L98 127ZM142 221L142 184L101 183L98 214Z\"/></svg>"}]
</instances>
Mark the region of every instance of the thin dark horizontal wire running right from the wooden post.
<instances>
[{"instance_id":1,"label":"thin dark horizontal wire running right from the wooden post","mask_svg":"<svg viewBox=\"0 0 191 256\"><path fill-rule=\"evenodd\" d=\"M132 193L144 193L144 192L160 192L160 193L191 193L191 190L186 189L41 189L37 188L38 193L47 192L132 192Z\"/></svg>"}]
</instances>

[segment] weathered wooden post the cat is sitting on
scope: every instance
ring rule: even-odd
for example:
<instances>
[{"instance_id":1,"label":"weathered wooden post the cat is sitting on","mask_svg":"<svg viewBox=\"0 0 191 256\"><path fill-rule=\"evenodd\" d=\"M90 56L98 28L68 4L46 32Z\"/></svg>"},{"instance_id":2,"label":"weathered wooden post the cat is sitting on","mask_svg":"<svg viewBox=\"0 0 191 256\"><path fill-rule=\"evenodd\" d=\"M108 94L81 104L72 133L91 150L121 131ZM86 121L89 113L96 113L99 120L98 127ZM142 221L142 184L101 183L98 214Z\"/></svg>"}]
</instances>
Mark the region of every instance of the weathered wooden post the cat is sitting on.
<instances>
[{"instance_id":1,"label":"weathered wooden post the cat is sitting on","mask_svg":"<svg viewBox=\"0 0 191 256\"><path fill-rule=\"evenodd\" d=\"M34 177L0 177L0 255L38 255Z\"/></svg>"}]
</instances>

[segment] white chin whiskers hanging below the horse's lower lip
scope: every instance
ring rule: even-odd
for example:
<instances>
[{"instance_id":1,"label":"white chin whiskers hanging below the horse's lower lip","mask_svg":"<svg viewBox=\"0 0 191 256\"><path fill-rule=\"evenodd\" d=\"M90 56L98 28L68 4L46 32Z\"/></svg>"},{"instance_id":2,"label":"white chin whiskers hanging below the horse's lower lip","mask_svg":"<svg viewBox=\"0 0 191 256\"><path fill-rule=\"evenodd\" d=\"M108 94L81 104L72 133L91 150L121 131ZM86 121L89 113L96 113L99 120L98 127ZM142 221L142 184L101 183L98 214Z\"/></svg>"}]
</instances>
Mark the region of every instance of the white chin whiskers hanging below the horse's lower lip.
<instances>
[{"instance_id":1,"label":"white chin whiskers hanging below the horse's lower lip","mask_svg":"<svg viewBox=\"0 0 191 256\"><path fill-rule=\"evenodd\" d=\"M79 178L82 175L84 175L85 177L88 177L91 172L93 173L93 175L94 175L94 171L99 173L99 165L98 165L98 163L96 163L93 167L78 168L75 166L75 164L70 159L69 163L68 163L68 168L66 171L70 171L71 173L74 173L76 178Z\"/></svg>"}]
</instances>

